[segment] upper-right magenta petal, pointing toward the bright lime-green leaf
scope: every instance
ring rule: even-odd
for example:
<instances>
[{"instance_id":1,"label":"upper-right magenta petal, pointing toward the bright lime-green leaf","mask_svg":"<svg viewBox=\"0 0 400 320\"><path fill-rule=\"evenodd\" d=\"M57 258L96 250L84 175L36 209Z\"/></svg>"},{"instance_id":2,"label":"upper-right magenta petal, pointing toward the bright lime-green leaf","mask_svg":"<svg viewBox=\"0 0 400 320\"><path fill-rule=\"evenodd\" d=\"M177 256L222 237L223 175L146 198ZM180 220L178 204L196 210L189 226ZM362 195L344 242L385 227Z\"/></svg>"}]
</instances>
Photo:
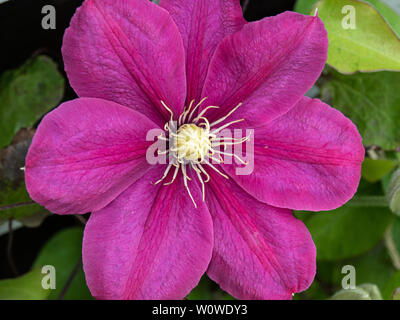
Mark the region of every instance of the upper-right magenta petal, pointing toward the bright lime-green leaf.
<instances>
[{"instance_id":1,"label":"upper-right magenta petal, pointing toward the bright lime-green leaf","mask_svg":"<svg viewBox=\"0 0 400 320\"><path fill-rule=\"evenodd\" d=\"M318 17L285 12L246 24L226 37L211 60L203 96L210 121L243 105L229 121L255 128L284 114L318 79L328 38ZM203 106L203 108L204 108Z\"/></svg>"}]
</instances>

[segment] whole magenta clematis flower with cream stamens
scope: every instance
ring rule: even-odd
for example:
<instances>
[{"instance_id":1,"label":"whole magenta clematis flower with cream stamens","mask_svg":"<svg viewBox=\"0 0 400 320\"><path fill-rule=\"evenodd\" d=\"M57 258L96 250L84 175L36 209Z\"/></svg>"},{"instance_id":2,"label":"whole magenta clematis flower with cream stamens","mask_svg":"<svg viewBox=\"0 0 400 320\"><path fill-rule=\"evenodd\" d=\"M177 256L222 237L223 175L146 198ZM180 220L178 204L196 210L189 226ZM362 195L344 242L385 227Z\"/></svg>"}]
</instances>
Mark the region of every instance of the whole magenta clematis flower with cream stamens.
<instances>
[{"instance_id":1,"label":"whole magenta clematis flower with cream stamens","mask_svg":"<svg viewBox=\"0 0 400 320\"><path fill-rule=\"evenodd\" d=\"M247 23L239 0L84 2L62 48L79 98L39 125L26 185L54 213L92 212L83 263L94 297L181 299L205 272L239 299L308 288L316 250L290 209L344 204L364 157L353 123L304 97L327 48L318 17ZM190 144L174 165L151 165L146 134L171 117ZM251 174L208 164L215 123L254 129Z\"/></svg>"}]
</instances>

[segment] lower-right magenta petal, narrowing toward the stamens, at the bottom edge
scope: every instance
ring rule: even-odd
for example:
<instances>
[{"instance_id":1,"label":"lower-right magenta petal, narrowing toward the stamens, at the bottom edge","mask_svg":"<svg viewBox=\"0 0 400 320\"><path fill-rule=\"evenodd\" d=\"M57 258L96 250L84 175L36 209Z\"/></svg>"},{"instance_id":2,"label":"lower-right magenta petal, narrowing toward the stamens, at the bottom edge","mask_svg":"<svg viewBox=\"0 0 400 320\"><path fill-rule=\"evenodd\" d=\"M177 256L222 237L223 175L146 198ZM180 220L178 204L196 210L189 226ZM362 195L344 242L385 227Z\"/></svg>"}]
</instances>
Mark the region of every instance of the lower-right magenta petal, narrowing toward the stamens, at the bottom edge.
<instances>
[{"instance_id":1,"label":"lower-right magenta petal, narrowing toward the stamens, at the bottom edge","mask_svg":"<svg viewBox=\"0 0 400 320\"><path fill-rule=\"evenodd\" d=\"M214 252L207 274L238 299L291 299L315 275L316 250L287 209L261 203L232 180L213 174L207 205Z\"/></svg>"}]
</instances>

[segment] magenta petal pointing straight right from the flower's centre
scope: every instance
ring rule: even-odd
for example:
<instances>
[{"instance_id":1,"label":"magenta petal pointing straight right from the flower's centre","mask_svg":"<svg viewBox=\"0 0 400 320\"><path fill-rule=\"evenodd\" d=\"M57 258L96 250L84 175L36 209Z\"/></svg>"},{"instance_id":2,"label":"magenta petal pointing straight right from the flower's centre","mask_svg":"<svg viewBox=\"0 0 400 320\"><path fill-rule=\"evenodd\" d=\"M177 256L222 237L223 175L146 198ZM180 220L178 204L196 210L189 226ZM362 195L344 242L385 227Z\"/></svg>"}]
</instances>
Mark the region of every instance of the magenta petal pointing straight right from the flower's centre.
<instances>
[{"instance_id":1,"label":"magenta petal pointing straight right from the flower's centre","mask_svg":"<svg viewBox=\"0 0 400 320\"><path fill-rule=\"evenodd\" d=\"M255 130L252 174L224 169L260 201L320 211L353 197L363 159L355 125L320 100L304 97L287 114Z\"/></svg>"}]
</instances>

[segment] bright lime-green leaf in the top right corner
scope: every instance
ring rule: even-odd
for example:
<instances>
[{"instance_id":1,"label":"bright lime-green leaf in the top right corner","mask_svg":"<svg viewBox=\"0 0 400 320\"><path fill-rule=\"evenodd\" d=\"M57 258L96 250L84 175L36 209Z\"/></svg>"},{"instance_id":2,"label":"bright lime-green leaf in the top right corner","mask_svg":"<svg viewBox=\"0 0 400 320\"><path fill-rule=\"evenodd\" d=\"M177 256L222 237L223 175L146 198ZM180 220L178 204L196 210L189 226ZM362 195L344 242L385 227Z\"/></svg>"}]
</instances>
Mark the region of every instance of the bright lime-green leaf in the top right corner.
<instances>
[{"instance_id":1,"label":"bright lime-green leaf in the top right corner","mask_svg":"<svg viewBox=\"0 0 400 320\"><path fill-rule=\"evenodd\" d=\"M345 6L354 8L353 29L343 27L349 15L342 13ZM400 71L400 38L372 5L359 0L322 0L316 7L328 31L328 64L342 73Z\"/></svg>"}]
</instances>

